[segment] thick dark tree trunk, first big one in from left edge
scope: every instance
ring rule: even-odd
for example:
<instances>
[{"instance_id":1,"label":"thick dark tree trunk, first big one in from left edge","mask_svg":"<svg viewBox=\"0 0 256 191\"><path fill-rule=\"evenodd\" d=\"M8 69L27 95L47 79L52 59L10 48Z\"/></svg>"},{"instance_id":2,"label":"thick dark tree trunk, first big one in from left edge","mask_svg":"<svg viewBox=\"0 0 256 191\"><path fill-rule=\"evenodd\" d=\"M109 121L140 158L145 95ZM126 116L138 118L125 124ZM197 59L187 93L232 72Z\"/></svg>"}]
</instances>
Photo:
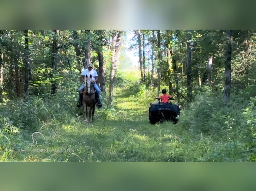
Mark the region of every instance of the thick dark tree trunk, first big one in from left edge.
<instances>
[{"instance_id":1,"label":"thick dark tree trunk, first big one in from left edge","mask_svg":"<svg viewBox=\"0 0 256 191\"><path fill-rule=\"evenodd\" d=\"M29 80L31 80L31 69L30 69L30 63L28 61L28 30L24 30L24 36L25 36L25 48L24 48L24 62L25 62L25 85L24 85L24 91L25 94L28 93L28 87L29 87Z\"/></svg>"}]
</instances>

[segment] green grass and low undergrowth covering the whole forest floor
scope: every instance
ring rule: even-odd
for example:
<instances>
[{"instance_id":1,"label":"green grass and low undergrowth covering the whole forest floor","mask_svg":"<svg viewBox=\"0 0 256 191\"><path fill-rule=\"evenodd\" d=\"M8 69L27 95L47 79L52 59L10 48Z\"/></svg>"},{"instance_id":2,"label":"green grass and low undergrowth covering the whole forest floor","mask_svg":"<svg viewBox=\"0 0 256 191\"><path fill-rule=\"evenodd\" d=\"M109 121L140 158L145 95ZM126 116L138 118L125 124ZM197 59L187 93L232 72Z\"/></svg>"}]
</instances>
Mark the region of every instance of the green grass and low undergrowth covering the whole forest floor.
<instances>
[{"instance_id":1,"label":"green grass and low undergrowth covering the whole forest floor","mask_svg":"<svg viewBox=\"0 0 256 191\"><path fill-rule=\"evenodd\" d=\"M0 161L256 159L254 99L243 111L247 107L244 104L226 107L212 94L204 93L181 111L177 124L151 125L148 103L153 101L155 90L139 86L133 95L129 82L115 87L113 106L107 106L103 99L104 106L96 108L92 123L85 123L81 109L76 108L75 92L60 92L52 99L5 103L0 112ZM60 99L63 95L65 98ZM45 125L40 131L46 123L58 126ZM57 130L56 134L51 128ZM31 135L36 131L45 136L47 144L37 133L33 136L37 145L31 146Z\"/></svg>"}]
</instances>

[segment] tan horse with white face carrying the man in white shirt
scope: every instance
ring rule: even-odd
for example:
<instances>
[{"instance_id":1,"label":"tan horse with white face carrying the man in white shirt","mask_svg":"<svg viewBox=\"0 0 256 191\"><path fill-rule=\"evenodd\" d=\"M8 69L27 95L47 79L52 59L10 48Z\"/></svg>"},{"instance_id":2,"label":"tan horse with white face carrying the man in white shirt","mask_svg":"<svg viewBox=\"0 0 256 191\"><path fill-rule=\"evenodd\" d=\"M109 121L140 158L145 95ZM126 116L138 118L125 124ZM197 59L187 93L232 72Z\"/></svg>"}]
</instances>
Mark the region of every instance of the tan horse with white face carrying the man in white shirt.
<instances>
[{"instance_id":1,"label":"tan horse with white face carrying the man in white shirt","mask_svg":"<svg viewBox=\"0 0 256 191\"><path fill-rule=\"evenodd\" d=\"M95 95L96 92L93 88L93 83L92 83L92 75L90 75L89 77L86 75L85 76L85 89L83 92L83 109L84 109L84 117L85 117L85 122L87 122L87 107L90 107L89 110L89 120L93 120L93 116L94 116L94 110L95 110L95 106L96 106L96 99L95 99Z\"/></svg>"}]
</instances>

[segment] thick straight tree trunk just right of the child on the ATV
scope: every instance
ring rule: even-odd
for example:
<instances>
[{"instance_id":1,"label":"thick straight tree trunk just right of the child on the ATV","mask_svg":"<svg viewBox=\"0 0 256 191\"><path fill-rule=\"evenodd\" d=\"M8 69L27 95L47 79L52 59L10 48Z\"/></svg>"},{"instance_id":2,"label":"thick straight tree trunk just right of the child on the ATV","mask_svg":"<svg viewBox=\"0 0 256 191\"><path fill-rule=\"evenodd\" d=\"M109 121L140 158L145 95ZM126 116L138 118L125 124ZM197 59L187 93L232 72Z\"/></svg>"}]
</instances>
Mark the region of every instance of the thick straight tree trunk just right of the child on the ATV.
<instances>
[{"instance_id":1,"label":"thick straight tree trunk just right of the child on the ATV","mask_svg":"<svg viewBox=\"0 0 256 191\"><path fill-rule=\"evenodd\" d=\"M186 76L187 76L187 102L192 100L192 74L191 74L191 30L187 30L187 64L186 64Z\"/></svg>"}]
</instances>

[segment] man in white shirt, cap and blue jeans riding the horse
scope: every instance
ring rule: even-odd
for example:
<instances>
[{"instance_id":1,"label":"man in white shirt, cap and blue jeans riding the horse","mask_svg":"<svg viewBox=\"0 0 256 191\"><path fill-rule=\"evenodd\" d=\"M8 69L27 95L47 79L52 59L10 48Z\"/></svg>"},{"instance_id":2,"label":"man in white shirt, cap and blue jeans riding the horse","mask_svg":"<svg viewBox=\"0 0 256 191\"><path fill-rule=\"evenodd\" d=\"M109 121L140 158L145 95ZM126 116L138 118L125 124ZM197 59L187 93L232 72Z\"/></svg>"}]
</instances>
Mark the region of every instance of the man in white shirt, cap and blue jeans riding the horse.
<instances>
[{"instance_id":1,"label":"man in white shirt, cap and blue jeans riding the horse","mask_svg":"<svg viewBox=\"0 0 256 191\"><path fill-rule=\"evenodd\" d=\"M85 82L85 76L90 76L92 75L92 80L93 80L93 84L94 84L94 89L96 90L97 94L98 94L98 100L97 100L97 105L98 107L102 107L102 103L100 101L100 88L99 86L96 84L96 82L99 80L98 77L98 73L96 70L93 69L93 65L89 64L88 65L88 69L83 70L81 77L80 77L80 81ZM83 90L85 88L85 84L83 83L82 86L78 89L79 92L79 101L78 101L78 107L82 106L82 101L83 101Z\"/></svg>"}]
</instances>

